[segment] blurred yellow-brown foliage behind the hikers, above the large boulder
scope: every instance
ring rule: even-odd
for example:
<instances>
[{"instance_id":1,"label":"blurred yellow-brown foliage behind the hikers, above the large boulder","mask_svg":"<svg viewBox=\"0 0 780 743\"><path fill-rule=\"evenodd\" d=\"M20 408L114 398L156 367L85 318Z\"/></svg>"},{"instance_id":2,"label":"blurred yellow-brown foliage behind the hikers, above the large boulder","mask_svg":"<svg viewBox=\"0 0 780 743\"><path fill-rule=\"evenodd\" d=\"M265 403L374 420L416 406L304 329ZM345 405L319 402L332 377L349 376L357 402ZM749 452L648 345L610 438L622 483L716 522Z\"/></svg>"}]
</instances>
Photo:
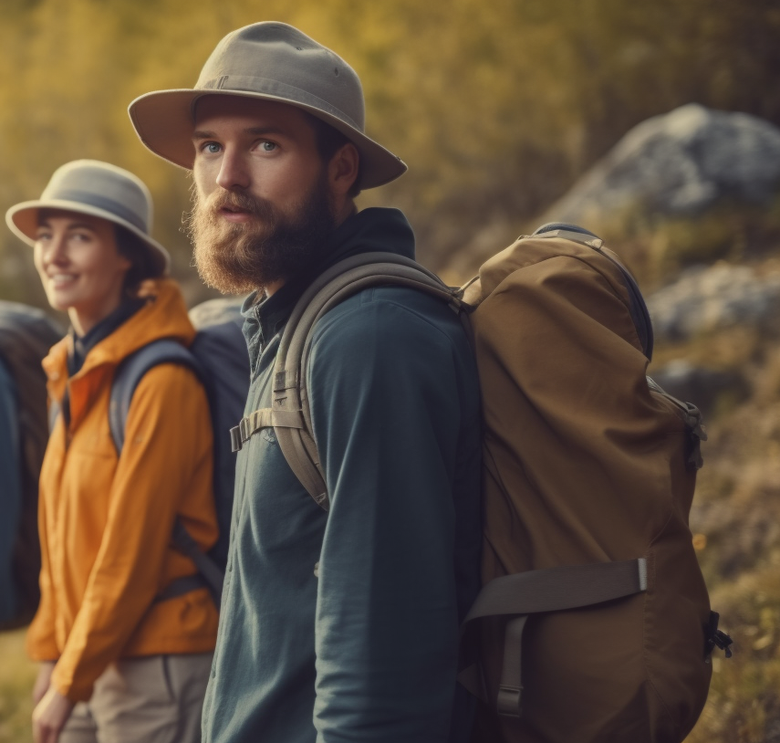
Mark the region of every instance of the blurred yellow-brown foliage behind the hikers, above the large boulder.
<instances>
[{"instance_id":1,"label":"blurred yellow-brown foliage behind the hikers, above the large boulder","mask_svg":"<svg viewBox=\"0 0 780 743\"><path fill-rule=\"evenodd\" d=\"M361 203L403 208L438 269L511 239L655 113L696 100L780 123L778 0L266 0L262 16L249 0L8 0L4 10L0 136L13 144L0 209L35 197L63 162L116 162L149 183L155 234L180 277L192 270L189 180L144 150L127 105L191 87L216 42L257 20L299 26L358 70L369 134L411 166ZM28 258L10 235L2 244L0 282ZM0 289L31 290L12 284Z\"/></svg>"}]
</instances>

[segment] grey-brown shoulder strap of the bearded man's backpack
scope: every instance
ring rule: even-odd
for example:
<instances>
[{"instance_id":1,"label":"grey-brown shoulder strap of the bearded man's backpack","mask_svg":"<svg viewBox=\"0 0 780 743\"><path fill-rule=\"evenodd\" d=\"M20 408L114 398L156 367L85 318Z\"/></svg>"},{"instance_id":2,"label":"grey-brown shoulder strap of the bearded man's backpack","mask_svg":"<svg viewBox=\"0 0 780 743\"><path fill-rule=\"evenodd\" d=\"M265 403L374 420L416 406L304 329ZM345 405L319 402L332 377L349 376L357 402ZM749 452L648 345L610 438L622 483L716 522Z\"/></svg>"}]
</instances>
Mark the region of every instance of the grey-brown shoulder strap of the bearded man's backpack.
<instances>
[{"instance_id":1,"label":"grey-brown shoulder strap of the bearded man's backpack","mask_svg":"<svg viewBox=\"0 0 780 743\"><path fill-rule=\"evenodd\" d=\"M287 464L320 508L328 510L328 487L312 429L306 388L311 330L329 309L359 291L376 286L416 288L447 302L468 326L459 289L420 264L393 253L364 253L325 271L297 301L287 321L274 369L273 407L250 413L231 431L238 451L249 438L273 426Z\"/></svg>"}]
</instances>

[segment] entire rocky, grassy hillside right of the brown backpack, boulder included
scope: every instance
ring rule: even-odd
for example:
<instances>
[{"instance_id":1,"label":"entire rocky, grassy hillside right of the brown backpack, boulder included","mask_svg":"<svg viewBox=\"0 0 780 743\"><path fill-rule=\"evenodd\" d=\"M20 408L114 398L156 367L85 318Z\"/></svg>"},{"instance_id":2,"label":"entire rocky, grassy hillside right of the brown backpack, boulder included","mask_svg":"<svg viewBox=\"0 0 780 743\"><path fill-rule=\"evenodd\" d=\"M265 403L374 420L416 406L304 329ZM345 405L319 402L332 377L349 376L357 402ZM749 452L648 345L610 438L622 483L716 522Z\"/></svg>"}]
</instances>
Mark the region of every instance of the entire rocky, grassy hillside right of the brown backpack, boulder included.
<instances>
[{"instance_id":1,"label":"entire rocky, grassy hillside right of the brown backpack, boulder included","mask_svg":"<svg viewBox=\"0 0 780 743\"><path fill-rule=\"evenodd\" d=\"M656 333L650 374L709 440L691 514L733 658L689 743L780 741L780 130L683 106L640 124L550 208L632 267Z\"/></svg>"}]
</instances>

